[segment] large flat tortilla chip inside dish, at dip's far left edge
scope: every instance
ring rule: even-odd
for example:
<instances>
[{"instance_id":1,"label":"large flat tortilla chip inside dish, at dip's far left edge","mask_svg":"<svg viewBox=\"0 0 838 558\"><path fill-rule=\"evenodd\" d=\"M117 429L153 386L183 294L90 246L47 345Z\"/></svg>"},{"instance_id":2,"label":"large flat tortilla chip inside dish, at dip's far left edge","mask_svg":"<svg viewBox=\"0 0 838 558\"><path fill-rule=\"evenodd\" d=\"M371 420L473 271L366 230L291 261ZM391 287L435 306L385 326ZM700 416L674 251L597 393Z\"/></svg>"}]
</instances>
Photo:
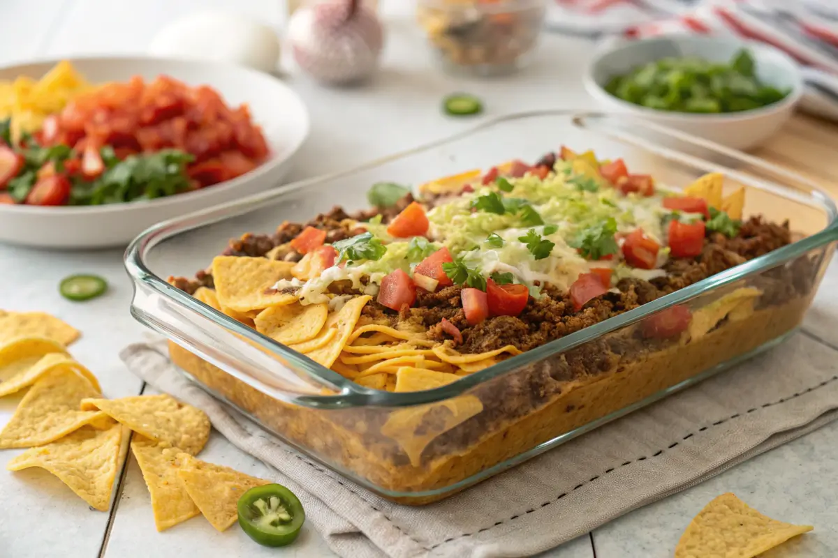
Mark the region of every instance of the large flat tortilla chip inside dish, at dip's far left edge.
<instances>
[{"instance_id":1,"label":"large flat tortilla chip inside dish, at dip's far left edge","mask_svg":"<svg viewBox=\"0 0 838 558\"><path fill-rule=\"evenodd\" d=\"M266 258L217 256L212 260L212 274L220 306L246 312L297 302L296 294L273 289L280 279L292 279L293 266Z\"/></svg>"}]
</instances>

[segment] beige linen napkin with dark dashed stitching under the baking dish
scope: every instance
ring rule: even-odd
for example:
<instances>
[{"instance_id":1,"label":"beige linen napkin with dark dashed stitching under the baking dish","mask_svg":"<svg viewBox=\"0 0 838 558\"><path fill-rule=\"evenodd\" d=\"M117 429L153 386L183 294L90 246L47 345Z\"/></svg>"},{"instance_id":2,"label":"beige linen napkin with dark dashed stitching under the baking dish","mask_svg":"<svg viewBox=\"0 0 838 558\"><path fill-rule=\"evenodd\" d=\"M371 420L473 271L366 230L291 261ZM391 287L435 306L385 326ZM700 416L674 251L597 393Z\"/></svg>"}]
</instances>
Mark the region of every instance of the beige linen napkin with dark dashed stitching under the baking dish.
<instances>
[{"instance_id":1,"label":"beige linen napkin with dark dashed stitching under the baking dish","mask_svg":"<svg viewBox=\"0 0 838 558\"><path fill-rule=\"evenodd\" d=\"M826 283L835 281L830 275ZM122 359L276 468L277 482L300 496L339 555L525 556L838 418L838 349L830 339L838 314L835 305L816 304L816 327L763 356L424 507L380 499L293 452L181 376L164 346L129 346Z\"/></svg>"}]
</instances>

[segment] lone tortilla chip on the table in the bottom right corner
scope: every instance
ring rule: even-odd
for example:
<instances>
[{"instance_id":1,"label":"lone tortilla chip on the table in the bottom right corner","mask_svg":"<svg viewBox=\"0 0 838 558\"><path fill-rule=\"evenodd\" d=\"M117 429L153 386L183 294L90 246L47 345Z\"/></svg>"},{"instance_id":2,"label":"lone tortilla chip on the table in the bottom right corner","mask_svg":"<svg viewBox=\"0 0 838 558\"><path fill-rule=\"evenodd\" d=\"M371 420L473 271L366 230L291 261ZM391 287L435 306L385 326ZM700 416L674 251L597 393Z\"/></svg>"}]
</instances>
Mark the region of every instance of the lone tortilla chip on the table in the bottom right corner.
<instances>
[{"instance_id":1,"label":"lone tortilla chip on the table in the bottom right corner","mask_svg":"<svg viewBox=\"0 0 838 558\"><path fill-rule=\"evenodd\" d=\"M772 520L728 492L713 499L687 525L675 558L752 558L812 529Z\"/></svg>"}]
</instances>

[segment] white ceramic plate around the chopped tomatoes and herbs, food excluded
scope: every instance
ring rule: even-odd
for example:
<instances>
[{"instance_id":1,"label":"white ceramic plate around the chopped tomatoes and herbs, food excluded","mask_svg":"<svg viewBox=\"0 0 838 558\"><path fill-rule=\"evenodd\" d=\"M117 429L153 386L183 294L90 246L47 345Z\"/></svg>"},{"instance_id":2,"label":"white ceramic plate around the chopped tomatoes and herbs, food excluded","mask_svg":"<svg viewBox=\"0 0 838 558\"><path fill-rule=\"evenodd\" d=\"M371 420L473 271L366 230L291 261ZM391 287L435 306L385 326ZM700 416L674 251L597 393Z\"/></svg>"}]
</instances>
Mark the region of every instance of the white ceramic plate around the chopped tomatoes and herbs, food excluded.
<instances>
[{"instance_id":1,"label":"white ceramic plate around the chopped tomatoes and herbs, food excluded","mask_svg":"<svg viewBox=\"0 0 838 558\"><path fill-rule=\"evenodd\" d=\"M39 78L57 62L3 68L0 79L18 75ZM279 185L292 156L308 136L308 110L303 100L280 80L256 70L216 62L142 57L80 58L70 62L93 83L124 81L133 75L150 80L168 74L190 85L207 84L228 105L250 105L271 156L241 177L155 200L90 207L0 205L0 242L39 248L124 246L154 223Z\"/></svg>"}]
</instances>

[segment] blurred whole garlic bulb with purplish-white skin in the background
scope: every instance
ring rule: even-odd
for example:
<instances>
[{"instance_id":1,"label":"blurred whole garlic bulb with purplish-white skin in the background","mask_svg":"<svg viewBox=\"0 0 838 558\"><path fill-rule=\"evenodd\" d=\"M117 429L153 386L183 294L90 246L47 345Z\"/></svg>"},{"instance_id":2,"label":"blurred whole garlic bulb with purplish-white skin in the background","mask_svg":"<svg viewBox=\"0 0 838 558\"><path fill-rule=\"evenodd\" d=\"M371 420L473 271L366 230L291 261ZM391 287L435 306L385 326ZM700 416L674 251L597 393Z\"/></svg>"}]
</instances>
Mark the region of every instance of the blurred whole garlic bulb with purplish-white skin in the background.
<instances>
[{"instance_id":1,"label":"blurred whole garlic bulb with purplish-white skin in the background","mask_svg":"<svg viewBox=\"0 0 838 558\"><path fill-rule=\"evenodd\" d=\"M326 84L349 84L375 71L384 28L360 0L324 0L294 12L287 40L303 72Z\"/></svg>"}]
</instances>

